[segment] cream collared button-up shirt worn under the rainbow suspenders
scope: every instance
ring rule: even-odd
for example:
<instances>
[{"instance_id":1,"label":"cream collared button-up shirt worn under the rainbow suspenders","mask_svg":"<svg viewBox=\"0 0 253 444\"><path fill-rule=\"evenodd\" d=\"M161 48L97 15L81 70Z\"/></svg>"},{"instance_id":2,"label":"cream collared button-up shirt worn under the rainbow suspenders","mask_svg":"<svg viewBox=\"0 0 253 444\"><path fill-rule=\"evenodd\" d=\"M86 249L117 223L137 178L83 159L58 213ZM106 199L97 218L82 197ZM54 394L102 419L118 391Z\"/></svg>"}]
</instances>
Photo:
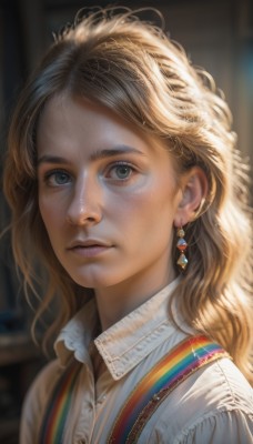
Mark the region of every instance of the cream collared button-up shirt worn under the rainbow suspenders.
<instances>
[{"instance_id":1,"label":"cream collared button-up shirt worn under the rainbow suspenders","mask_svg":"<svg viewBox=\"0 0 253 444\"><path fill-rule=\"evenodd\" d=\"M169 317L178 280L93 340L98 325L90 301L61 331L58 359L32 384L22 411L20 444L37 444L38 431L59 372L74 356L82 363L67 420L63 444L105 444L118 413L136 383L186 337ZM176 322L179 320L176 319ZM181 327L185 325L181 322ZM193 333L188 329L188 333ZM102 371L95 381L91 355ZM144 426L140 444L253 443L253 394L229 359L199 369L162 402Z\"/></svg>"}]
</instances>

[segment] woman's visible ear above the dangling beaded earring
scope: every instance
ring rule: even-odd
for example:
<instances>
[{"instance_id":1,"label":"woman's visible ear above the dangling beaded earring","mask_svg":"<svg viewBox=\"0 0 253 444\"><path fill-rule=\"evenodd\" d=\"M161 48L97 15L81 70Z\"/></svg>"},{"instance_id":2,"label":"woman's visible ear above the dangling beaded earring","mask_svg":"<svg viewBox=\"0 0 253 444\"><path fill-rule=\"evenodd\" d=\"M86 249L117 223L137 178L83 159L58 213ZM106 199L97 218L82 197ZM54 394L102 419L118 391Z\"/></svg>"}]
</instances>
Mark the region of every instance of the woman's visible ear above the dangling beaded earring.
<instances>
[{"instance_id":1,"label":"woman's visible ear above the dangling beaded earring","mask_svg":"<svg viewBox=\"0 0 253 444\"><path fill-rule=\"evenodd\" d=\"M178 228L194 220L209 191L206 174L200 167L193 167L183 174L181 183L182 199L174 216L174 225Z\"/></svg>"}]
</instances>

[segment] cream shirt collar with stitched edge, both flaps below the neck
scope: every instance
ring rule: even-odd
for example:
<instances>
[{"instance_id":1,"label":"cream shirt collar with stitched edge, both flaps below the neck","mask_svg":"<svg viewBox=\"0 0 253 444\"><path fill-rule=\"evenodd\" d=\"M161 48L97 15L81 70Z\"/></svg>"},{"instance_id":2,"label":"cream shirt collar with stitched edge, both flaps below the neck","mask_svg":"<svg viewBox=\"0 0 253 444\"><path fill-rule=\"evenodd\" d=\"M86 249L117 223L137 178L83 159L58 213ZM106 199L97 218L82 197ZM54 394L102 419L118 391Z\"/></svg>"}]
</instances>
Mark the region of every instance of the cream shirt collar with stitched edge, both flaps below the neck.
<instances>
[{"instance_id":1,"label":"cream shirt collar with stitched edge, both flaps below the neck","mask_svg":"<svg viewBox=\"0 0 253 444\"><path fill-rule=\"evenodd\" d=\"M114 380L123 377L174 332L168 304L179 282L180 278L175 279L94 340ZM176 322L182 323L179 319ZM87 362L98 324L97 304L91 300L58 336L54 349L62 365L67 365L72 354L78 361Z\"/></svg>"}]
</instances>

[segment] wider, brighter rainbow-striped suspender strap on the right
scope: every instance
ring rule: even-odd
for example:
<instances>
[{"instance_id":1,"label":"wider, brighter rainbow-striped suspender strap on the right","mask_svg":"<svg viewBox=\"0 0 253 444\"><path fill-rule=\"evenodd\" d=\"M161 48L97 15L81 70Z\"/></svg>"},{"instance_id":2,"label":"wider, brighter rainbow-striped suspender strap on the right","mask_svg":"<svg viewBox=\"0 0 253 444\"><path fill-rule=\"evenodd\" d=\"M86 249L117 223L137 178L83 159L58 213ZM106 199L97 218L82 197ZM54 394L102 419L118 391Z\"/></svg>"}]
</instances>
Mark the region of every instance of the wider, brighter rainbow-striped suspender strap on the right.
<instances>
[{"instance_id":1,"label":"wider, brighter rainbow-striped suspender strap on the right","mask_svg":"<svg viewBox=\"0 0 253 444\"><path fill-rule=\"evenodd\" d=\"M203 335L191 336L181 342L130 394L108 443L136 443L145 423L163 398L191 373L223 356L229 355L220 345Z\"/></svg>"}]
</instances>

